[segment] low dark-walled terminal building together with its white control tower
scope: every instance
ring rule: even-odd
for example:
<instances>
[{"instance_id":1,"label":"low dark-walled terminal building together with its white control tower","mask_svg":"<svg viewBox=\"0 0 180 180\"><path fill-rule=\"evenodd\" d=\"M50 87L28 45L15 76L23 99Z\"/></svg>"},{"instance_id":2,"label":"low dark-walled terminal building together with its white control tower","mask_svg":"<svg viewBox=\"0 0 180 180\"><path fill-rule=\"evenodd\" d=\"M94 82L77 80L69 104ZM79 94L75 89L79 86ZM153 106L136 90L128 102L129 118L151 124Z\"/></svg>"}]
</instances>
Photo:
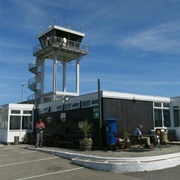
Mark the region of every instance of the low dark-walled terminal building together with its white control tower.
<instances>
[{"instance_id":1,"label":"low dark-walled terminal building together with its white control tower","mask_svg":"<svg viewBox=\"0 0 180 180\"><path fill-rule=\"evenodd\" d=\"M38 36L39 44L33 48L35 61L29 64L34 75L28 87L34 94L27 104L1 105L0 142L12 143L18 138L23 142L26 133L34 132L34 124L42 118L46 124L45 140L49 145L74 142L82 134L78 123L87 119L93 124L93 146L106 146L106 119L116 119L117 136L133 132L143 124L143 133L160 129L166 131L170 140L180 140L180 97L158 97L130 94L100 89L79 94L80 59L88 54L88 45L82 44L82 32L69 28L51 26ZM52 60L52 91L45 92L46 60ZM75 90L67 92L67 64L75 63ZM57 66L62 65L62 89L58 89ZM59 142L59 144L58 144ZM62 143L63 144L63 143Z\"/></svg>"}]
</instances>

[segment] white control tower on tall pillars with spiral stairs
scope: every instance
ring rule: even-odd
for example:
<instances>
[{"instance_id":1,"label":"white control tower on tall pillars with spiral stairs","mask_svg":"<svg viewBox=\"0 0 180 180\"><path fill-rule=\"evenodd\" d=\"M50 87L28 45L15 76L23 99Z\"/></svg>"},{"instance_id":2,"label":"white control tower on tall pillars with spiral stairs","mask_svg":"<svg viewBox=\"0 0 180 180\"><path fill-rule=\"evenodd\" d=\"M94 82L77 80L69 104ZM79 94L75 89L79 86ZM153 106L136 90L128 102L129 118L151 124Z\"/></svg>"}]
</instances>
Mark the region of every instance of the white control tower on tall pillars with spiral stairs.
<instances>
[{"instance_id":1,"label":"white control tower on tall pillars with spiral stairs","mask_svg":"<svg viewBox=\"0 0 180 180\"><path fill-rule=\"evenodd\" d=\"M64 28L61 26L51 26L39 36L39 44L33 48L35 61L29 64L29 71L35 76L28 81L28 88L34 91L35 105L62 99L65 96L79 95L79 62L88 54L88 45L82 44L84 33ZM45 61L53 61L52 91L44 92L45 87ZM66 66L67 63L75 61L75 90L66 91ZM57 65L62 64L62 90L57 89ZM58 82L59 79L58 79Z\"/></svg>"}]
</instances>

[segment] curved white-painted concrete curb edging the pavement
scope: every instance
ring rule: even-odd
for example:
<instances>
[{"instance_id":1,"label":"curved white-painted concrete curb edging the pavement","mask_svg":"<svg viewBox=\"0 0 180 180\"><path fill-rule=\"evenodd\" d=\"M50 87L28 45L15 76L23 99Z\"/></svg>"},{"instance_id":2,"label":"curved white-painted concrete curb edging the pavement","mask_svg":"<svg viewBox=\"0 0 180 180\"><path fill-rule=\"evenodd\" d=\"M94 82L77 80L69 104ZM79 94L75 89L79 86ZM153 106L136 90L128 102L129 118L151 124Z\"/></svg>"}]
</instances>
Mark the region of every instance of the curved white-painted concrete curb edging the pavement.
<instances>
[{"instance_id":1,"label":"curved white-painted concrete curb edging the pavement","mask_svg":"<svg viewBox=\"0 0 180 180\"><path fill-rule=\"evenodd\" d=\"M57 155L72 161L72 163L101 171L111 172L141 172L172 168L180 165L180 153L151 157L99 157L71 153L64 151L47 150L43 148L27 148Z\"/></svg>"}]
</instances>

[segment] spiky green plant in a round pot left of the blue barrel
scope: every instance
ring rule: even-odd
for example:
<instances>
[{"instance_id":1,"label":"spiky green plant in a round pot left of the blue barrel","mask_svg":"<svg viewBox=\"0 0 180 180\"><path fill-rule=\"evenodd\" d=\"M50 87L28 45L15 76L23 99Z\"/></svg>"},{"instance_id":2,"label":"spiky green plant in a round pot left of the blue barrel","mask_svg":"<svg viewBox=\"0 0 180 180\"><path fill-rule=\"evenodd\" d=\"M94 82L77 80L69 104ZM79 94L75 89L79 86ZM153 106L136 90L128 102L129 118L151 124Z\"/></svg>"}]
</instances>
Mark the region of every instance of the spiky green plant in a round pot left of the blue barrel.
<instances>
[{"instance_id":1,"label":"spiky green plant in a round pot left of the blue barrel","mask_svg":"<svg viewBox=\"0 0 180 180\"><path fill-rule=\"evenodd\" d=\"M92 149L92 139L90 132L92 131L93 125L87 120L79 122L79 129L83 133L84 138L80 139L80 149L81 150L91 150Z\"/></svg>"}]
</instances>

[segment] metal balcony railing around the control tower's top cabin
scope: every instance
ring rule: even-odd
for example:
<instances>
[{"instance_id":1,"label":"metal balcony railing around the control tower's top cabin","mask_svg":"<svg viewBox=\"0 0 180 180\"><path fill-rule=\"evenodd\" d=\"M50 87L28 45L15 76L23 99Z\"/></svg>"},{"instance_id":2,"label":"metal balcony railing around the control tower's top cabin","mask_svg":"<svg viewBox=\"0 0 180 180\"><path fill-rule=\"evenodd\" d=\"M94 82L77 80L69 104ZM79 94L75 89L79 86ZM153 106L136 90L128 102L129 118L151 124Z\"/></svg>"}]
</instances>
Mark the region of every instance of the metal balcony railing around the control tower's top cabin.
<instances>
[{"instance_id":1,"label":"metal balcony railing around the control tower's top cabin","mask_svg":"<svg viewBox=\"0 0 180 180\"><path fill-rule=\"evenodd\" d=\"M88 53L88 45L87 44L81 44L77 41L71 41L71 40L66 40L66 42L65 42L63 38L60 38L57 36L51 36L51 37L47 38L46 40L41 41L40 44L36 45L33 48L33 54L41 51L44 48L52 46L52 45L57 46L57 47L63 47L63 48L69 49L69 50Z\"/></svg>"}]
</instances>

